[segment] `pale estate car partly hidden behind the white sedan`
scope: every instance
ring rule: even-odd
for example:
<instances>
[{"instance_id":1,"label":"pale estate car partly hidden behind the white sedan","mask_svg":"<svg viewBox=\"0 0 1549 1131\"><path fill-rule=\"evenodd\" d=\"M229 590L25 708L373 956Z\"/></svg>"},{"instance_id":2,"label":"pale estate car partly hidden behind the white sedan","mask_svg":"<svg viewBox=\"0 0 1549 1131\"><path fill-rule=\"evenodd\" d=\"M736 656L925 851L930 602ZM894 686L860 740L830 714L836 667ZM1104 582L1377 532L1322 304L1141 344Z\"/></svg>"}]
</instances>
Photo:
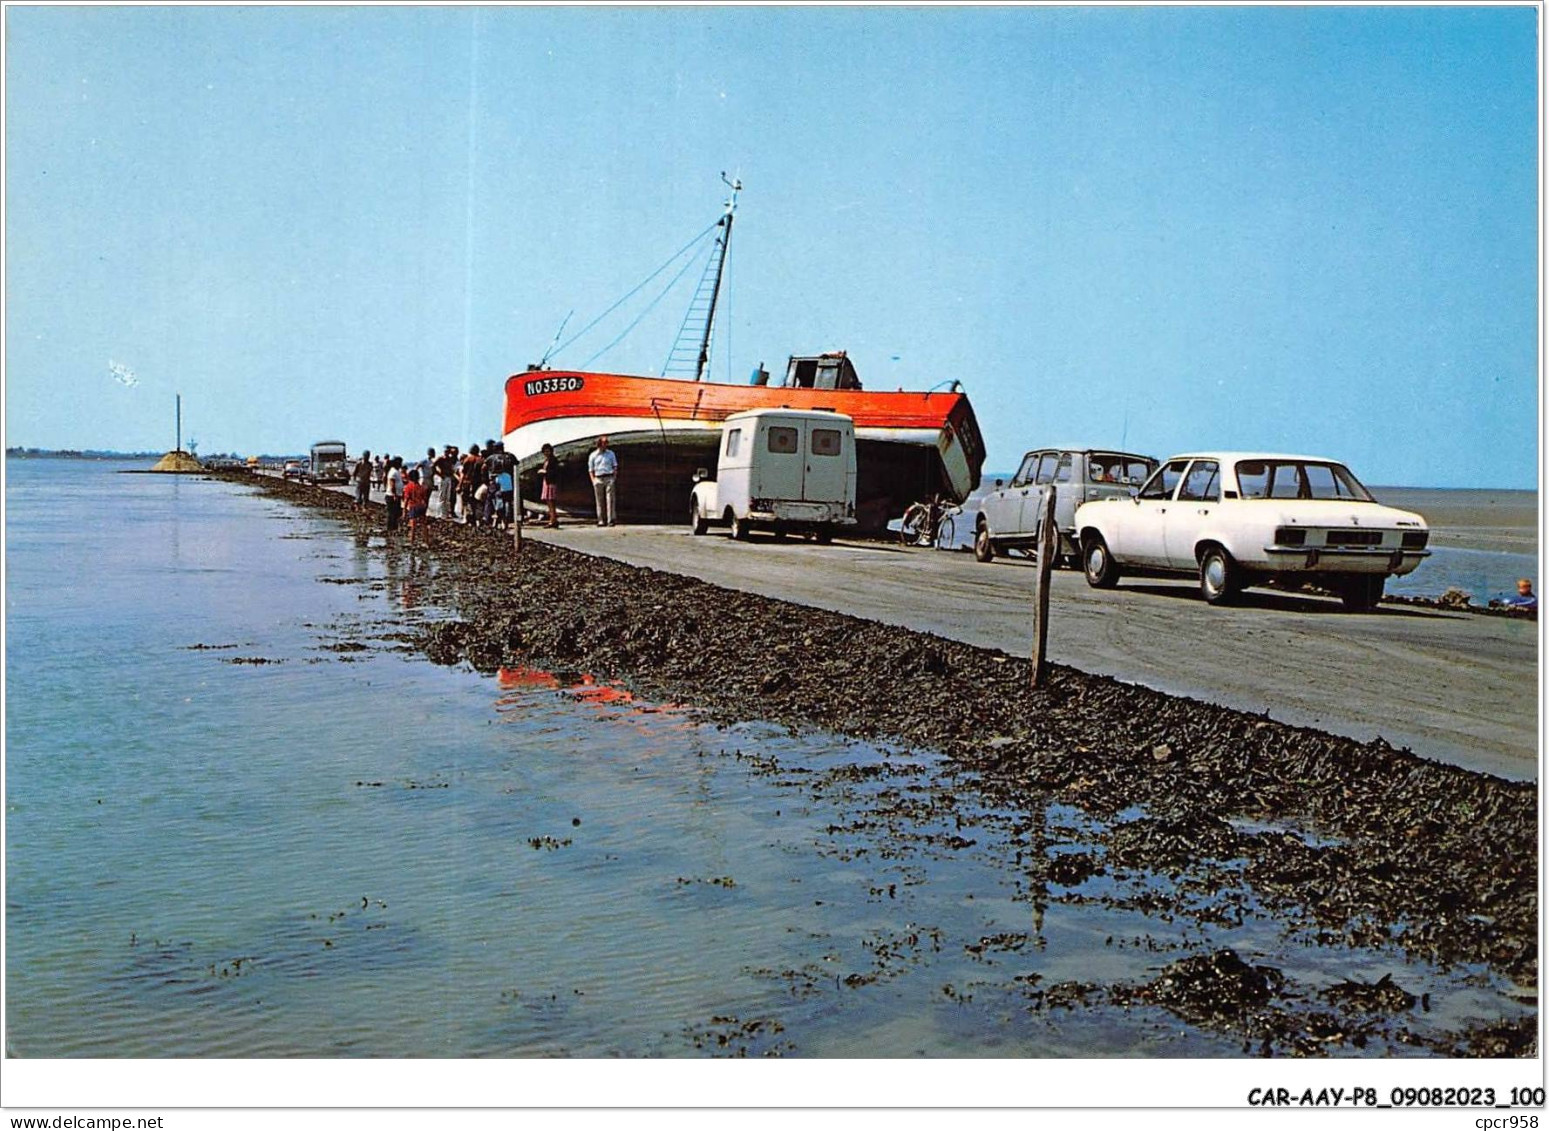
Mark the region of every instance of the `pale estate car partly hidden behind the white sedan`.
<instances>
[{"instance_id":1,"label":"pale estate car partly hidden behind the white sedan","mask_svg":"<svg viewBox=\"0 0 1549 1131\"><path fill-rule=\"evenodd\" d=\"M1010 548L1032 550L1038 544L1044 490L1055 490L1055 525L1060 528L1060 559L1075 566L1081 547L1075 538L1075 508L1083 502L1128 497L1156 471L1151 455L1104 448L1038 448L1022 457L1022 465L1002 486L979 504L974 519L973 553L979 561Z\"/></svg>"}]
</instances>

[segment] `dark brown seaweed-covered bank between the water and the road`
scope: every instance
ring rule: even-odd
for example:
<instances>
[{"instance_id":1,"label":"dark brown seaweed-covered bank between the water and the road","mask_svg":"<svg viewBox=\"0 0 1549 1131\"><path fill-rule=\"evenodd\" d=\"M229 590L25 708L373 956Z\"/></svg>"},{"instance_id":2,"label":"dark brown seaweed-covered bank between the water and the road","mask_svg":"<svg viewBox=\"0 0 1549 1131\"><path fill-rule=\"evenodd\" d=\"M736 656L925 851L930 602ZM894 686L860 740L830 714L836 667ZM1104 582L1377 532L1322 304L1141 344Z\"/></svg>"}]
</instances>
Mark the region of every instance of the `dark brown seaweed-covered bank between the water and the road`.
<instances>
[{"instance_id":1,"label":"dark brown seaweed-covered bank between the water and the road","mask_svg":"<svg viewBox=\"0 0 1549 1131\"><path fill-rule=\"evenodd\" d=\"M344 527L380 528L380 514L355 514L339 494L265 486L336 511ZM1283 923L1287 945L1478 967L1504 979L1515 1001L1537 1004L1530 782L1063 665L1035 693L1025 658L996 648L536 541L516 555L508 538L445 524L437 533L424 600L449 617L418 643L438 663L587 671L728 722L768 719L936 750L971 789L1025 813L1018 863L1050 891L1142 869L1166 878L1125 897L1143 900L1148 914L1204 925L1252 905ZM951 564L973 573L971 562ZM1372 620L1388 618L1403 620L1386 610ZM1094 821L1094 852L1056 851L1050 804ZM1352 1009L1368 1009L1360 1002L1391 987L1351 981L1348 990ZM1262 1036L1264 1050L1365 1047L1362 1024L1289 1007L1272 970L1230 951L1169 964L1139 990L1092 984L1070 995L1070 1006L1149 996L1202 1026ZM1427 1047L1526 1055L1534 1023L1503 1016Z\"/></svg>"}]
</instances>

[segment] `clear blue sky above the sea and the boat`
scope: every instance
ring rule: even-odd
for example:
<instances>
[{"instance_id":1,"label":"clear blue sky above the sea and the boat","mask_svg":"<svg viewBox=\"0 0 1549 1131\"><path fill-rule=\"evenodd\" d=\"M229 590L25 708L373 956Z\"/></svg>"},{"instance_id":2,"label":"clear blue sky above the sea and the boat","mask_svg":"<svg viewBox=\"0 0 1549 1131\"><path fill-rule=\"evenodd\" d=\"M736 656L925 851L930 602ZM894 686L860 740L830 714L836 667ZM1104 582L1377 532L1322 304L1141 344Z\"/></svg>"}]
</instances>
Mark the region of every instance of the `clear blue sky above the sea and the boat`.
<instances>
[{"instance_id":1,"label":"clear blue sky above the sea and the boat","mask_svg":"<svg viewBox=\"0 0 1549 1131\"><path fill-rule=\"evenodd\" d=\"M1089 442L1537 482L1534 8L5 20L8 445L167 448L173 392L201 451L482 442L726 170L719 380L826 349L956 376L990 468ZM593 366L658 370L696 277Z\"/></svg>"}]
</instances>

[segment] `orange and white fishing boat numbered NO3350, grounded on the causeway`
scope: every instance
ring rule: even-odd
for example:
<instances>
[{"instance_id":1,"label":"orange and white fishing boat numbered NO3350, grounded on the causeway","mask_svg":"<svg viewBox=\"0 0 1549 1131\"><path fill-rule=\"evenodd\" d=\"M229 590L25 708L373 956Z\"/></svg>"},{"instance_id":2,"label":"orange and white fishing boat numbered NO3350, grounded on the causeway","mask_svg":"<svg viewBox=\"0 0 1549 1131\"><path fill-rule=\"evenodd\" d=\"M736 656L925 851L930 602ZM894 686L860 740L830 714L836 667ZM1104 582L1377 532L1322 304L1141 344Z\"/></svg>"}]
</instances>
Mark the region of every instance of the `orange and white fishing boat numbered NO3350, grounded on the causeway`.
<instances>
[{"instance_id":1,"label":"orange and white fishing boat numbered NO3350, grounded on the causeway","mask_svg":"<svg viewBox=\"0 0 1549 1131\"><path fill-rule=\"evenodd\" d=\"M507 380L505 449L519 460L522 497L538 497L542 446L550 443L562 473L559 508L593 513L586 459L606 435L618 454L620 517L685 521L694 474L716 471L722 421L734 412L790 407L843 412L855 421L863 531L886 528L917 499L967 499L979 485L985 452L957 380L922 392L863 389L843 350L793 355L778 384L768 383L762 364L747 384L705 380L740 189L740 183L728 184L716 245L661 376L550 369L545 356Z\"/></svg>"}]
</instances>

